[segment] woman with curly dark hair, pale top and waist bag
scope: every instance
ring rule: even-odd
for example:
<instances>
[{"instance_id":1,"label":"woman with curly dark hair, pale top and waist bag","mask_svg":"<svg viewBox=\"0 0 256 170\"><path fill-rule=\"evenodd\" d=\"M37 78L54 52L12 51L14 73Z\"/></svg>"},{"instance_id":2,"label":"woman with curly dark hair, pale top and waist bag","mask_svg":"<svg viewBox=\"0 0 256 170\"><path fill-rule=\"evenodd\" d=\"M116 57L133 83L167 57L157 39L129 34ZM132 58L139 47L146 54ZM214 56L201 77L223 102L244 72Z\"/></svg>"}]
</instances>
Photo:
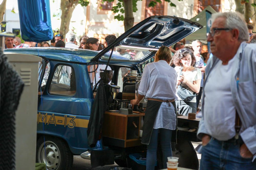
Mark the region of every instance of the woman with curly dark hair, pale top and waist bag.
<instances>
[{"instance_id":1,"label":"woman with curly dark hair, pale top and waist bag","mask_svg":"<svg viewBox=\"0 0 256 170\"><path fill-rule=\"evenodd\" d=\"M177 50L173 62L178 75L177 85L185 87L192 94L199 93L202 73L200 69L193 67L196 62L193 51L190 48ZM178 97L176 107L179 114L187 116L188 113L196 113L196 96L188 102L183 101L177 93L176 96Z\"/></svg>"}]
</instances>

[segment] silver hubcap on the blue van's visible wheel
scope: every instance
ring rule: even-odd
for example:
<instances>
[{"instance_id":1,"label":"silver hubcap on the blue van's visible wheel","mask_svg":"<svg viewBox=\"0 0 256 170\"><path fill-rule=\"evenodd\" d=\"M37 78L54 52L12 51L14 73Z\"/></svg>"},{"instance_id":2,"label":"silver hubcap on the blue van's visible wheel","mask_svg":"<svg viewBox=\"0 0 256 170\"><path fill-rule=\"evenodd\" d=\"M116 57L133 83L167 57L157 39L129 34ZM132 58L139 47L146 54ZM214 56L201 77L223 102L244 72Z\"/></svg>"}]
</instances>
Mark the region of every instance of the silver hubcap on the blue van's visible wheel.
<instances>
[{"instance_id":1,"label":"silver hubcap on the blue van's visible wheel","mask_svg":"<svg viewBox=\"0 0 256 170\"><path fill-rule=\"evenodd\" d=\"M54 142L46 141L42 143L38 150L39 163L46 163L49 170L57 170L60 165L60 151Z\"/></svg>"}]
</instances>

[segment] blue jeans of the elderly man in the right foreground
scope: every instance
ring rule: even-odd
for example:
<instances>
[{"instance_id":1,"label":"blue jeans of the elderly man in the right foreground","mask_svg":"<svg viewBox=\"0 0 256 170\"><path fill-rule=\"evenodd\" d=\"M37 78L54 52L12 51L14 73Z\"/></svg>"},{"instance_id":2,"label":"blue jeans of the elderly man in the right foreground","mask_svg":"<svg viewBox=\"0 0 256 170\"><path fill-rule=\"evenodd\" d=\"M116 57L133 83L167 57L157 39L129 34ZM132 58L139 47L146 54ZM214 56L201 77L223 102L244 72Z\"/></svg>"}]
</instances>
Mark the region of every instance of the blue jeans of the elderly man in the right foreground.
<instances>
[{"instance_id":1,"label":"blue jeans of the elderly man in the right foreground","mask_svg":"<svg viewBox=\"0 0 256 170\"><path fill-rule=\"evenodd\" d=\"M240 156L240 144L211 138L202 147L200 170L204 169L256 169L256 161Z\"/></svg>"}]
</instances>

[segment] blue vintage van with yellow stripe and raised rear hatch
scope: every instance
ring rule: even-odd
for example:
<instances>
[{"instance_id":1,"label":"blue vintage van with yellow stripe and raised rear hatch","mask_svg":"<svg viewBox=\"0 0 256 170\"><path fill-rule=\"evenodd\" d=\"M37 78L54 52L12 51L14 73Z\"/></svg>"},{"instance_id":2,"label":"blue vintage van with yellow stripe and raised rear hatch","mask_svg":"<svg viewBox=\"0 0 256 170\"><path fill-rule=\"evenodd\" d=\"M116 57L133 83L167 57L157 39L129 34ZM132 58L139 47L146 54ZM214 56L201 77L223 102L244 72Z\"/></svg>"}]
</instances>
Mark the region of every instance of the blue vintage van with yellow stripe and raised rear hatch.
<instances>
[{"instance_id":1,"label":"blue vintage van with yellow stripe and raised rear hatch","mask_svg":"<svg viewBox=\"0 0 256 170\"><path fill-rule=\"evenodd\" d=\"M90 77L89 71L97 65L105 69L109 61L110 69L114 70L112 83L123 86L122 69L139 72L138 65L151 59L161 46L171 46L200 28L200 24L187 19L152 16L100 52L51 47L6 49L8 53L35 55L43 59L39 64L38 78L37 161L46 162L48 169L70 169L73 155L95 151L90 157L94 166L109 164L104 162L109 156L120 166L125 166L129 153L145 147L111 147L104 145L102 139L98 140L96 147L88 146L87 127L94 101L92 86L97 82L94 81L96 75ZM111 55L110 51L114 49L119 52ZM108 155L108 151L113 151L113 154Z\"/></svg>"}]
</instances>

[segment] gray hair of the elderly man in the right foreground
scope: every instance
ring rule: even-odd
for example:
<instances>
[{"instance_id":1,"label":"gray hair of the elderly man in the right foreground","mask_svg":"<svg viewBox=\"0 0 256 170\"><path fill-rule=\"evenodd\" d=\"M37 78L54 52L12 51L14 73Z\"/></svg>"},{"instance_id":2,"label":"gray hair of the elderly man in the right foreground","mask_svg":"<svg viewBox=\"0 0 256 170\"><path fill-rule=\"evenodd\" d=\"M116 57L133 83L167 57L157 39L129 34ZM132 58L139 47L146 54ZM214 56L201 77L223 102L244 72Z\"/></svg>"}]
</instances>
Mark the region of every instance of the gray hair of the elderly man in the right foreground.
<instances>
[{"instance_id":1,"label":"gray hair of the elderly man in the right foreground","mask_svg":"<svg viewBox=\"0 0 256 170\"><path fill-rule=\"evenodd\" d=\"M226 19L225 28L229 29L238 29L239 41L249 41L249 34L246 22L244 20L244 16L238 12L218 12L215 14L212 14L212 22L214 22L215 19L223 17Z\"/></svg>"}]
</instances>

